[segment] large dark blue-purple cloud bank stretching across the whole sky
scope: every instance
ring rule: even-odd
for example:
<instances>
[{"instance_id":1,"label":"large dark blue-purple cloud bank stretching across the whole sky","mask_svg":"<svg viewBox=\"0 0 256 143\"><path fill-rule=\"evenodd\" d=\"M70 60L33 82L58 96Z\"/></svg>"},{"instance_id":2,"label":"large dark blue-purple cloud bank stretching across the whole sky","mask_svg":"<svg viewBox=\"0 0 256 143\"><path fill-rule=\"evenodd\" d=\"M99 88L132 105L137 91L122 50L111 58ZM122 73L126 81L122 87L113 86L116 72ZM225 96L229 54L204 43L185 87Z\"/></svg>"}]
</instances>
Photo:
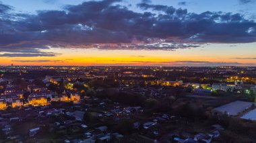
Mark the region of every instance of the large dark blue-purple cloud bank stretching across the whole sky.
<instances>
[{"instance_id":1,"label":"large dark blue-purple cloud bank stretching across the whole sky","mask_svg":"<svg viewBox=\"0 0 256 143\"><path fill-rule=\"evenodd\" d=\"M119 2L86 1L67 5L63 11L36 14L9 12L12 7L0 4L1 14L9 15L0 15L0 52L33 50L34 54L54 56L41 50L51 46L175 50L209 42L256 41L255 21L239 13L189 13L187 9L153 5L150 1L137 5L144 11L139 13Z\"/></svg>"}]
</instances>

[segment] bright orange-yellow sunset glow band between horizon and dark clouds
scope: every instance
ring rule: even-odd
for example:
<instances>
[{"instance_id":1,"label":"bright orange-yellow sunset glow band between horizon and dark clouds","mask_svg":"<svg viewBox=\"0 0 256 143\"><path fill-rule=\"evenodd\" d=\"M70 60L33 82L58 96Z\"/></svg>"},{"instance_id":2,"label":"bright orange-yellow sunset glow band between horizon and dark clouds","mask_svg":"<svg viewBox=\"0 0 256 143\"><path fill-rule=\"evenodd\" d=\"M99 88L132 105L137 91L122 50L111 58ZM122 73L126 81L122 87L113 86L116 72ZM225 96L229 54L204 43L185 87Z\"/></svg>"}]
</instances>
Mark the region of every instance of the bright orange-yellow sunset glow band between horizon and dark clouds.
<instances>
[{"instance_id":1,"label":"bright orange-yellow sunset glow band between horizon and dark clouds","mask_svg":"<svg viewBox=\"0 0 256 143\"><path fill-rule=\"evenodd\" d=\"M247 44L248 45L248 44ZM239 62L256 64L255 44L230 47L225 44L203 48L177 50L99 50L96 48L50 48L43 52L56 53L55 56L1 57L0 65L32 66L172 66L182 61ZM241 57L241 53L243 56ZM241 57L241 58L234 58ZM179 62L180 61L180 62ZM197 65L197 64L195 64Z\"/></svg>"}]
</instances>

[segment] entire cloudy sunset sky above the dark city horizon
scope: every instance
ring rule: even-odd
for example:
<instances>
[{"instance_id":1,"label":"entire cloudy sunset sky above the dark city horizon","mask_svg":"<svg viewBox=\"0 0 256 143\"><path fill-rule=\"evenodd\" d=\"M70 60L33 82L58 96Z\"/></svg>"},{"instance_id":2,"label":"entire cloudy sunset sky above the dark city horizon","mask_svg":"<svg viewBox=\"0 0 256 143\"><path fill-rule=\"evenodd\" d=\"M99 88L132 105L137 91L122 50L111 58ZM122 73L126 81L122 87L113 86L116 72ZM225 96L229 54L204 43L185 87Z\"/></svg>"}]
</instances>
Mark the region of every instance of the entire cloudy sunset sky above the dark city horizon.
<instances>
[{"instance_id":1,"label":"entire cloudy sunset sky above the dark city horizon","mask_svg":"<svg viewBox=\"0 0 256 143\"><path fill-rule=\"evenodd\" d=\"M256 66L256 0L0 0L0 65Z\"/></svg>"}]
</instances>

